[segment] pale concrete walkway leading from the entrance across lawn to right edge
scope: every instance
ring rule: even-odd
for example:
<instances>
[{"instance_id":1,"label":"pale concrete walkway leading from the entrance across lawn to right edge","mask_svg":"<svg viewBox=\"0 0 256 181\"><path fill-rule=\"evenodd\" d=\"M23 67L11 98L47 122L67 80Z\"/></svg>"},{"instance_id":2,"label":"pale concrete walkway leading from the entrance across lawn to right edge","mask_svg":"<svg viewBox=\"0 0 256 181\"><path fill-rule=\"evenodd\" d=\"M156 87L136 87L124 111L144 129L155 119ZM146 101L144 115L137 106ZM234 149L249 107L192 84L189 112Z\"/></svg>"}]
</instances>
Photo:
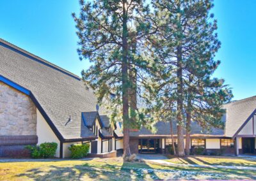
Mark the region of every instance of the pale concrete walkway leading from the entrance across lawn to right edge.
<instances>
[{"instance_id":1,"label":"pale concrete walkway leading from the entrance across lawn to right edge","mask_svg":"<svg viewBox=\"0 0 256 181\"><path fill-rule=\"evenodd\" d=\"M177 164L177 163L170 163L168 161L164 161L164 159L168 159L163 155L142 155L139 154L137 156L138 159L142 159L148 162L163 164L166 166L179 166L179 167L196 167L196 168L224 168L224 169L234 169L234 170L255 170L256 167L252 166L223 166L223 165L207 165L207 164Z\"/></svg>"}]
</instances>

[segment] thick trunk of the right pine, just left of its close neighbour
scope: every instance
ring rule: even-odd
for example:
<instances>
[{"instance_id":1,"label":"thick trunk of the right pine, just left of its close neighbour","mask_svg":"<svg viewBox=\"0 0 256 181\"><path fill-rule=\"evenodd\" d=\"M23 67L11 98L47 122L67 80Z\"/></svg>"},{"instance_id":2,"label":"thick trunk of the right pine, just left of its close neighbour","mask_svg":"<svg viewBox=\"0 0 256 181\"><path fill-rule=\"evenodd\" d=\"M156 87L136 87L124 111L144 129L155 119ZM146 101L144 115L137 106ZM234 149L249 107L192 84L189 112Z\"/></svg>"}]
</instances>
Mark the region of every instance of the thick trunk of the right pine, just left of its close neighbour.
<instances>
[{"instance_id":1,"label":"thick trunk of the right pine, just left of its close neighbour","mask_svg":"<svg viewBox=\"0 0 256 181\"><path fill-rule=\"evenodd\" d=\"M182 81L182 47L177 47L177 155L184 156L184 135L183 135L183 81Z\"/></svg>"}]
</instances>

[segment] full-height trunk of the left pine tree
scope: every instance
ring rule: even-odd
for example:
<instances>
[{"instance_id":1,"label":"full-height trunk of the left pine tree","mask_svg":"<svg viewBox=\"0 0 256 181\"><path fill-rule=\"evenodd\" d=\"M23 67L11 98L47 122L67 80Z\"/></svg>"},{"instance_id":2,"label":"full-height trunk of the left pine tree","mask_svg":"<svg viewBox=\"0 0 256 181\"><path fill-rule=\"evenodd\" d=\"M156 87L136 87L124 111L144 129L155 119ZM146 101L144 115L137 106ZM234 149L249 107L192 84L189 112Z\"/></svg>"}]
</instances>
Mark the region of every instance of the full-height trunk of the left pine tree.
<instances>
[{"instance_id":1,"label":"full-height trunk of the left pine tree","mask_svg":"<svg viewBox=\"0 0 256 181\"><path fill-rule=\"evenodd\" d=\"M122 102L123 102L123 121L124 121L124 157L131 156L129 146L129 99L128 99L128 29L127 29L127 14L126 1L123 1L123 33L122 33Z\"/></svg>"}]
</instances>

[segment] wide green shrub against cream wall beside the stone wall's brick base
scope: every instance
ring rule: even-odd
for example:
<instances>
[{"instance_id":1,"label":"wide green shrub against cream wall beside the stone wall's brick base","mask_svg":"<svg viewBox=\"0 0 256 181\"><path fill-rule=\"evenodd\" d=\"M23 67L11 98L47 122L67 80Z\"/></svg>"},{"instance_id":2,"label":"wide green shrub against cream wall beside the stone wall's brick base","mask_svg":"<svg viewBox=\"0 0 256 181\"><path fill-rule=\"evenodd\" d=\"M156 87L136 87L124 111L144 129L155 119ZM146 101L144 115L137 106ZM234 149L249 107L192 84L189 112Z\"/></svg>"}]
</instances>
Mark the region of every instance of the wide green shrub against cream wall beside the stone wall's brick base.
<instances>
[{"instance_id":1,"label":"wide green shrub against cream wall beside the stone wall's brick base","mask_svg":"<svg viewBox=\"0 0 256 181\"><path fill-rule=\"evenodd\" d=\"M57 143L42 143L39 146L28 145L25 148L29 150L31 157L33 158L50 158L54 157L58 144Z\"/></svg>"}]
</instances>

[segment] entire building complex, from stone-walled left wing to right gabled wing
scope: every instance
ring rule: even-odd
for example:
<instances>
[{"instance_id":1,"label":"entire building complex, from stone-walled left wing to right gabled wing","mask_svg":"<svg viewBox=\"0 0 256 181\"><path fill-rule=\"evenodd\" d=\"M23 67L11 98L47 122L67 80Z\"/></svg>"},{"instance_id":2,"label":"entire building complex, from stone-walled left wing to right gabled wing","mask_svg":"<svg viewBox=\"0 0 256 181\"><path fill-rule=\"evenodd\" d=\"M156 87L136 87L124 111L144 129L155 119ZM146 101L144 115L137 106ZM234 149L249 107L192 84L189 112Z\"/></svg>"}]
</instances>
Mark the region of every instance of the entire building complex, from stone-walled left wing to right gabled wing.
<instances>
[{"instance_id":1,"label":"entire building complex, from stone-walled left wing to right gabled wing","mask_svg":"<svg viewBox=\"0 0 256 181\"><path fill-rule=\"evenodd\" d=\"M223 105L224 129L204 130L191 123L189 147L208 154L256 153L256 96ZM68 147L89 143L90 154L102 156L123 148L122 126L111 123L108 112L83 80L51 62L0 39L0 157L28 156L26 145L56 142L56 157L69 157ZM130 131L131 152L169 153L177 145L170 122L156 123L156 133ZM185 141L184 141L185 142Z\"/></svg>"}]
</instances>

